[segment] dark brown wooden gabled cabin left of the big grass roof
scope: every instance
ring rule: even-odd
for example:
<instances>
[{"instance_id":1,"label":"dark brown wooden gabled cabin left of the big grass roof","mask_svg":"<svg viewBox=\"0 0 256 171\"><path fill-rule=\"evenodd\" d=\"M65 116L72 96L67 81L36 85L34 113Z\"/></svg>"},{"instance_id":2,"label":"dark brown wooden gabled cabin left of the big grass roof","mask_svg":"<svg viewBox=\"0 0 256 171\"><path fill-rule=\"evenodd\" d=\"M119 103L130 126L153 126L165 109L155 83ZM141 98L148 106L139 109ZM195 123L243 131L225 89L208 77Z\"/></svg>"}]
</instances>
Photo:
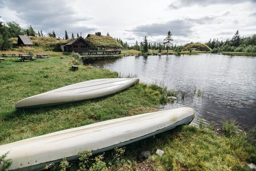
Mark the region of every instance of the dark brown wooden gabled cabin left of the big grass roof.
<instances>
[{"instance_id":1,"label":"dark brown wooden gabled cabin left of the big grass roof","mask_svg":"<svg viewBox=\"0 0 256 171\"><path fill-rule=\"evenodd\" d=\"M89 45L87 42L80 36L71 41L59 43L60 49L64 52L79 52L89 50Z\"/></svg>"}]
</instances>

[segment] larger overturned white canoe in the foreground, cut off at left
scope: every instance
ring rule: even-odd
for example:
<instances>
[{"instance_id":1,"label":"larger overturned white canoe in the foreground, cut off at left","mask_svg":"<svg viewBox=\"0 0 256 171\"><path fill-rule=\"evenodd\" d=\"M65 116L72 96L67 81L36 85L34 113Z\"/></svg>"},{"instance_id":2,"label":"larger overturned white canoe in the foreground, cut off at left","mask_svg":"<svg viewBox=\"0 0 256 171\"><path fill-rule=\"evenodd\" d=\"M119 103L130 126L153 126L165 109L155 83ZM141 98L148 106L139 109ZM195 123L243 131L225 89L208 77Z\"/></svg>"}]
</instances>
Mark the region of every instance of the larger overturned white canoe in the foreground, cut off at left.
<instances>
[{"instance_id":1,"label":"larger overturned white canoe in the foreground, cut off at left","mask_svg":"<svg viewBox=\"0 0 256 171\"><path fill-rule=\"evenodd\" d=\"M93 123L9 144L0 145L0 156L12 159L10 169L35 170L78 152L100 153L188 124L194 110L178 108Z\"/></svg>"}]
</instances>

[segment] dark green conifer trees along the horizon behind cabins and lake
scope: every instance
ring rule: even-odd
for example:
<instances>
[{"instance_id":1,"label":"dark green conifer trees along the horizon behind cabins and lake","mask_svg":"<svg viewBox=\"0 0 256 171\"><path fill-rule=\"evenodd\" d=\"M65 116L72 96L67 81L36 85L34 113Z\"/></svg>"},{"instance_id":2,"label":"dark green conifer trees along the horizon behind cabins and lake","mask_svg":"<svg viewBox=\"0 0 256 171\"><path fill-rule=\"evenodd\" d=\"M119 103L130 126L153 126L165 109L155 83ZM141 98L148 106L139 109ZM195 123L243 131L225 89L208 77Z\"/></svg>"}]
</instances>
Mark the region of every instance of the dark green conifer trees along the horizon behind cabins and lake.
<instances>
[{"instance_id":1,"label":"dark green conifer trees along the horizon behind cabins and lake","mask_svg":"<svg viewBox=\"0 0 256 171\"><path fill-rule=\"evenodd\" d=\"M42 30L38 30L37 33L30 25L27 29L24 29L19 26L16 22L7 22L6 25L4 25L2 22L0 22L0 50L8 50L12 47L12 43L10 41L10 38L17 37L18 35L28 35L28 36L47 36L47 37L56 37L56 34L54 30L52 33L48 33L45 35ZM109 33L107 33L107 36L110 36ZM77 33L76 37L79 37L79 34ZM60 38L60 37L58 37ZM74 33L72 33L71 38L75 38ZM67 30L65 30L65 37L62 39L69 39L69 35ZM162 52L162 50L173 50L174 52L181 52L184 50L184 47L186 47L189 44L193 44L193 42L190 42L188 44L185 44L183 46L176 46L173 45L173 38L172 38L172 32L168 31L166 37L163 39L162 42L148 42L147 37L145 35L144 40L141 42L138 42L136 40L135 45L129 46L127 42L123 41L120 38L115 38L116 41L118 41L121 46L122 50L137 50L141 51L142 53L147 53L149 49L151 50L157 50L158 52ZM256 52L256 35L254 34L251 37L240 37L239 30L234 34L234 36L231 39L227 39L226 41L219 41L218 39L210 39L208 42L205 42L205 45L207 45L209 48L211 48L211 53L218 53L218 52Z\"/></svg>"}]
</instances>

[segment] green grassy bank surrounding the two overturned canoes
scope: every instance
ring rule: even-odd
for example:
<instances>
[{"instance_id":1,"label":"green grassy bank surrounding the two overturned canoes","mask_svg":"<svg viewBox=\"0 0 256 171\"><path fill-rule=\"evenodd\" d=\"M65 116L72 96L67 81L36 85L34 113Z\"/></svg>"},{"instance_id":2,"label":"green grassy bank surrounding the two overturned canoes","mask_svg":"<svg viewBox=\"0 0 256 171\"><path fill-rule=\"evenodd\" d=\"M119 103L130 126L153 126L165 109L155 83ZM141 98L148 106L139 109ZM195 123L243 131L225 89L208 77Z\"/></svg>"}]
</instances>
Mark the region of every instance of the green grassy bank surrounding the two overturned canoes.
<instances>
[{"instance_id":1,"label":"green grassy bank surrounding the two overturned canoes","mask_svg":"<svg viewBox=\"0 0 256 171\"><path fill-rule=\"evenodd\" d=\"M159 109L163 89L138 83L104 98L16 110L14 105L18 100L35 94L90 79L118 77L116 73L92 66L78 65L78 71L73 72L70 68L76 61L71 60L72 56L60 59L62 55L52 53L50 58L25 62L8 57L0 63L0 144ZM127 145L117 164L109 165L113 150L106 152L101 161L111 170L249 170L246 164L256 161L255 141L249 141L249 134L237 132L234 125L224 130L231 131L216 135L212 127L181 126ZM162 149L165 155L155 155L156 149ZM153 155L144 159L140 156L143 150ZM68 168L77 169L77 162Z\"/></svg>"}]
</instances>

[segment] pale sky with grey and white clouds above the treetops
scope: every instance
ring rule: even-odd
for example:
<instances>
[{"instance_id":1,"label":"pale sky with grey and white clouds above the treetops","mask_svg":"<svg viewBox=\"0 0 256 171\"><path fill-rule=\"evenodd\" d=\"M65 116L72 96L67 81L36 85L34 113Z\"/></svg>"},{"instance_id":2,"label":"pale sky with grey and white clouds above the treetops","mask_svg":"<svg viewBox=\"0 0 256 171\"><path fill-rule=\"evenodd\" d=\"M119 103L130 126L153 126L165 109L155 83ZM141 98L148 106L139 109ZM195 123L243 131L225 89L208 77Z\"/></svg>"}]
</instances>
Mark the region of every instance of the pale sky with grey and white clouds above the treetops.
<instances>
[{"instance_id":1,"label":"pale sky with grey and white clouds above the treetops","mask_svg":"<svg viewBox=\"0 0 256 171\"><path fill-rule=\"evenodd\" d=\"M109 32L129 44L162 42L168 31L177 45L256 34L256 0L0 0L0 16L61 38Z\"/></svg>"}]
</instances>

